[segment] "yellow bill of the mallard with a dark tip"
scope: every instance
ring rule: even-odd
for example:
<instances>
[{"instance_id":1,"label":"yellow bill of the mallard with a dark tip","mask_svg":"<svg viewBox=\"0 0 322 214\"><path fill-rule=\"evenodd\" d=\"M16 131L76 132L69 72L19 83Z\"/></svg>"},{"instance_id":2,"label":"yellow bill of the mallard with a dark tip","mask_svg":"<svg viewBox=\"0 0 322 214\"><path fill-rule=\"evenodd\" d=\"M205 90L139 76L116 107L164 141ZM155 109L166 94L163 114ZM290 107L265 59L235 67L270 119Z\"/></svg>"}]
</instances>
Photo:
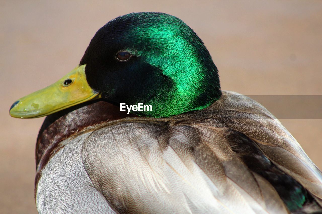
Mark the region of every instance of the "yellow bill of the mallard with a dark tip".
<instances>
[{"instance_id":1,"label":"yellow bill of the mallard with a dark tip","mask_svg":"<svg viewBox=\"0 0 322 214\"><path fill-rule=\"evenodd\" d=\"M43 117L99 97L88 85L85 65L81 65L56 83L14 102L9 114L16 118Z\"/></svg>"}]
</instances>

